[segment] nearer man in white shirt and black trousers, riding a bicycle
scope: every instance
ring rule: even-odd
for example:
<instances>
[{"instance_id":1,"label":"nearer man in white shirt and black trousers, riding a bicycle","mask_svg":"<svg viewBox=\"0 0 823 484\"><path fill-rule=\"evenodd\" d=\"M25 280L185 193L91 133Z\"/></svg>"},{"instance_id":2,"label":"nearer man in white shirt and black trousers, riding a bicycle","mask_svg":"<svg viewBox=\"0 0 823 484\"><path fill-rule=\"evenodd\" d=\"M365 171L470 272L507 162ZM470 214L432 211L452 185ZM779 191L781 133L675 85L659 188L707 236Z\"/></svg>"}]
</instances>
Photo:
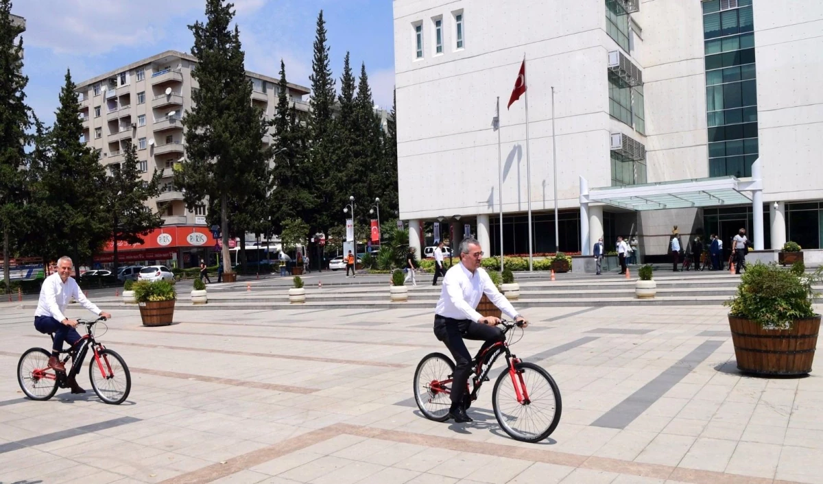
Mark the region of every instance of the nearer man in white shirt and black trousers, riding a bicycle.
<instances>
[{"instance_id":1,"label":"nearer man in white shirt and black trousers, riding a bicycle","mask_svg":"<svg viewBox=\"0 0 823 484\"><path fill-rule=\"evenodd\" d=\"M466 383L472 373L472 355L466 348L463 338L484 341L478 355L496 342L503 341L503 332L495 328L500 319L493 316L484 317L477 312L477 304L483 294L515 321L522 321L523 328L528 321L518 314L491 282L486 270L481 268L483 253L477 239L463 239L460 242L460 263L446 272L443 289L435 309L435 336L444 342L454 357L455 368L452 380L452 405L449 417L458 423L472 421L463 407L463 395Z\"/></svg>"}]
</instances>

